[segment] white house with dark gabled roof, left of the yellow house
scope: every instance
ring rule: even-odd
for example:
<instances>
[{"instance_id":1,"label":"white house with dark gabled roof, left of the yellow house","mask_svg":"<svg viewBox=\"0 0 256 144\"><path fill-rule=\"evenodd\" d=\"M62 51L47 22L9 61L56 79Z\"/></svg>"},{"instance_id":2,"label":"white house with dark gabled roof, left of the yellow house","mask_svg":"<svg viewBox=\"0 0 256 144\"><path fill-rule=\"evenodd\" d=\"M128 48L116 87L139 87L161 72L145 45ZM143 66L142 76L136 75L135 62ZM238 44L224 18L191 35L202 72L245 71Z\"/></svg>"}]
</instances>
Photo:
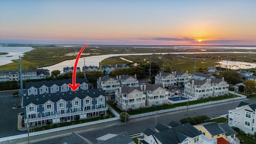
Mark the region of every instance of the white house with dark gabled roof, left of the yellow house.
<instances>
[{"instance_id":1,"label":"white house with dark gabled roof, left of the yellow house","mask_svg":"<svg viewBox=\"0 0 256 144\"><path fill-rule=\"evenodd\" d=\"M139 144L214 144L213 140L204 137L202 132L189 123L173 128L162 124L156 127L155 130L146 129L143 132L144 138L139 140Z\"/></svg>"}]
</instances>

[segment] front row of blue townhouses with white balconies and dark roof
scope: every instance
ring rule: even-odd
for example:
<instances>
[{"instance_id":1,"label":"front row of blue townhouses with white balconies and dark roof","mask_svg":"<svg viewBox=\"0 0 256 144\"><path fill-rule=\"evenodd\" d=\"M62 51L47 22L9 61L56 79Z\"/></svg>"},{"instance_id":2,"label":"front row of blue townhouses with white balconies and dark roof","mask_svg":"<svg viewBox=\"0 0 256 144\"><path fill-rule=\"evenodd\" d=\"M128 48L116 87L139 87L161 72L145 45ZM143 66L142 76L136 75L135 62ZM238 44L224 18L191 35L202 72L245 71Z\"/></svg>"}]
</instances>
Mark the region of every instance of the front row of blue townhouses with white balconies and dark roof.
<instances>
[{"instance_id":1,"label":"front row of blue townhouses with white balconies and dark roof","mask_svg":"<svg viewBox=\"0 0 256 144\"><path fill-rule=\"evenodd\" d=\"M29 125L43 126L102 116L107 96L102 88L24 96L24 122L28 118Z\"/></svg>"}]
</instances>

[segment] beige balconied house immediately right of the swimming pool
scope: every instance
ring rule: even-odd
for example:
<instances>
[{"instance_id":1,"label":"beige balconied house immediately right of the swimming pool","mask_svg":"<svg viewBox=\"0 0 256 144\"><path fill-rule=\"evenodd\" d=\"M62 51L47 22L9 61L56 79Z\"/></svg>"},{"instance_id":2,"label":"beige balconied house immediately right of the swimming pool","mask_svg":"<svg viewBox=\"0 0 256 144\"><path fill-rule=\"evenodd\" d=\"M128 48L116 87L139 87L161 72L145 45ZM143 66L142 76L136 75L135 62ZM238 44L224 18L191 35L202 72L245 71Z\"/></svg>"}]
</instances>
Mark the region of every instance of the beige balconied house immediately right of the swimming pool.
<instances>
[{"instance_id":1,"label":"beige balconied house immediately right of the swimming pool","mask_svg":"<svg viewBox=\"0 0 256 144\"><path fill-rule=\"evenodd\" d=\"M213 94L213 86L209 80L195 80L190 79L185 84L184 93L186 96L193 96L195 98L208 98Z\"/></svg>"}]
</instances>

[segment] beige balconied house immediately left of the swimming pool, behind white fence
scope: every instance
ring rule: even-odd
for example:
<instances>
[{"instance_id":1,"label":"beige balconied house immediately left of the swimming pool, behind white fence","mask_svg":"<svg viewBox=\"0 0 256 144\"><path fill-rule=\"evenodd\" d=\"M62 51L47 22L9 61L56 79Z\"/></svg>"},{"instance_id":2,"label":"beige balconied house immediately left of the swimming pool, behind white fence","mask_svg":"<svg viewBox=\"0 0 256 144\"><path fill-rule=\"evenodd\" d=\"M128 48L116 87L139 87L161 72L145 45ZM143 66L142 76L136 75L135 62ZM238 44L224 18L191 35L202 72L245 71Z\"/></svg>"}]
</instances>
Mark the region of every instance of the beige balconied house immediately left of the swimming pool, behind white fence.
<instances>
[{"instance_id":1,"label":"beige balconied house immediately left of the swimming pool, behind white fence","mask_svg":"<svg viewBox=\"0 0 256 144\"><path fill-rule=\"evenodd\" d=\"M146 94L146 105L154 106L154 105L162 105L168 103L168 97L170 96L170 92L157 84L146 83L144 86L140 86L141 89Z\"/></svg>"}]
</instances>

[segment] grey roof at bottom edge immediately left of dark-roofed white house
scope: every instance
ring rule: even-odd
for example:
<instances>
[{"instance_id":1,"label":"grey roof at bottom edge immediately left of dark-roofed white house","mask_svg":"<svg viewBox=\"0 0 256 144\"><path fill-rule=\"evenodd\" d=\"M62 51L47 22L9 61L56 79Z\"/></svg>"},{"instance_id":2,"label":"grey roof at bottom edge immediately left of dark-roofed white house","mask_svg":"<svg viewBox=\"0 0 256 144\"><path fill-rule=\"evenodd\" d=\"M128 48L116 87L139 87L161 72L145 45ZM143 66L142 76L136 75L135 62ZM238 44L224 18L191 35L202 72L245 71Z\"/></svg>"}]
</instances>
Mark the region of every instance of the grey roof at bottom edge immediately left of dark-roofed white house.
<instances>
[{"instance_id":1,"label":"grey roof at bottom edge immediately left of dark-roofed white house","mask_svg":"<svg viewBox=\"0 0 256 144\"><path fill-rule=\"evenodd\" d=\"M113 136L112 138L109 138L102 142L98 142L96 144L136 144L136 143L132 140L128 132L123 132L121 134L118 134L116 136Z\"/></svg>"}]
</instances>

